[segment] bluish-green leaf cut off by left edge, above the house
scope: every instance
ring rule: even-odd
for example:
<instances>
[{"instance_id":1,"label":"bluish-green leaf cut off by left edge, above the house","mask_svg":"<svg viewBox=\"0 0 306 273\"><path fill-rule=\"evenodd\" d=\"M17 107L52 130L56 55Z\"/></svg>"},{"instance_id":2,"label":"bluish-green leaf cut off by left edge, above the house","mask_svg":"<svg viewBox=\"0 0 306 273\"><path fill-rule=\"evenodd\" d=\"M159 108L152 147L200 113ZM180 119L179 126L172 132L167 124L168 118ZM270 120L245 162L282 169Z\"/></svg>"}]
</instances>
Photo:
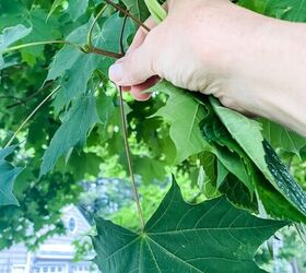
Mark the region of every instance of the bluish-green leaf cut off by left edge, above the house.
<instances>
[{"instance_id":1,"label":"bluish-green leaf cut off by left edge, above the house","mask_svg":"<svg viewBox=\"0 0 306 273\"><path fill-rule=\"evenodd\" d=\"M19 205L19 201L13 194L13 186L23 168L14 168L5 161L5 157L12 154L15 147L0 149L0 207L4 205Z\"/></svg>"}]
</instances>

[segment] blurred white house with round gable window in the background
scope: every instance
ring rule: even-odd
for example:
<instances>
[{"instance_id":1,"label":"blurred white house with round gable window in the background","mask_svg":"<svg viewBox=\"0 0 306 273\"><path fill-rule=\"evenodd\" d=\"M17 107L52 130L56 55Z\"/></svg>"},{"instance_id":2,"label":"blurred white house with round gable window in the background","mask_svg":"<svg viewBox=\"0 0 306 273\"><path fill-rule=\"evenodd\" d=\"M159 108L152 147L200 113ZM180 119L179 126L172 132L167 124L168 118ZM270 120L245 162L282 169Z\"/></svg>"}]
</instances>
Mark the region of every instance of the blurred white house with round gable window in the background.
<instances>
[{"instance_id":1,"label":"blurred white house with round gable window in the background","mask_svg":"<svg viewBox=\"0 0 306 273\"><path fill-rule=\"evenodd\" d=\"M62 221L66 235L57 235L46 240L35 252L16 245L0 251L0 273L90 273L98 272L91 262L92 257L82 262L73 262L73 241L84 237L91 225L76 206L63 210Z\"/></svg>"}]
</instances>

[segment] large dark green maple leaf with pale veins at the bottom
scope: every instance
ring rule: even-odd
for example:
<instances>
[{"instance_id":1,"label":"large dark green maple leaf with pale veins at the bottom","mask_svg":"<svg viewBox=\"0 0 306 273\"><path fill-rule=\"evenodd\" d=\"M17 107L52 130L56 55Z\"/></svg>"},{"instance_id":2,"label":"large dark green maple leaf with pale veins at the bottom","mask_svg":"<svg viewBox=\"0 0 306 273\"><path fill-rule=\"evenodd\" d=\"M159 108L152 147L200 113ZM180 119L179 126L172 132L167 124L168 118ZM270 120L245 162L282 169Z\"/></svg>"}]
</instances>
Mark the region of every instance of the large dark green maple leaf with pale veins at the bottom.
<instances>
[{"instance_id":1,"label":"large dark green maple leaf with pale veins at the bottom","mask_svg":"<svg viewBox=\"0 0 306 273\"><path fill-rule=\"evenodd\" d=\"M261 219L224 197L190 205L176 182L144 230L96 218L95 262L102 272L264 272L257 248L286 223Z\"/></svg>"}]
</instances>

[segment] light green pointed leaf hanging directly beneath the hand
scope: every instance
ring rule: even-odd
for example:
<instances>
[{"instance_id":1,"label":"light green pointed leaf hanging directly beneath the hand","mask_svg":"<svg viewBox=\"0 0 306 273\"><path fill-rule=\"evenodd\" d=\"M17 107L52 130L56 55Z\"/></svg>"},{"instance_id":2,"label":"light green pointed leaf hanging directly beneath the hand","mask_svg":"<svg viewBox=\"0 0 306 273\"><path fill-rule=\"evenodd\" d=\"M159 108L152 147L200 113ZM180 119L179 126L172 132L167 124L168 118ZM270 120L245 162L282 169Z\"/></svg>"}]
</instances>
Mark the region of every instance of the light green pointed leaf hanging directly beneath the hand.
<instances>
[{"instance_id":1,"label":"light green pointed leaf hanging directly beneath the hand","mask_svg":"<svg viewBox=\"0 0 306 273\"><path fill-rule=\"evenodd\" d=\"M151 91L163 92L169 96L166 105L154 116L163 117L170 124L169 134L177 151L175 163L210 150L200 131L200 121L207 116L202 105L191 94L166 81L158 83Z\"/></svg>"}]
</instances>

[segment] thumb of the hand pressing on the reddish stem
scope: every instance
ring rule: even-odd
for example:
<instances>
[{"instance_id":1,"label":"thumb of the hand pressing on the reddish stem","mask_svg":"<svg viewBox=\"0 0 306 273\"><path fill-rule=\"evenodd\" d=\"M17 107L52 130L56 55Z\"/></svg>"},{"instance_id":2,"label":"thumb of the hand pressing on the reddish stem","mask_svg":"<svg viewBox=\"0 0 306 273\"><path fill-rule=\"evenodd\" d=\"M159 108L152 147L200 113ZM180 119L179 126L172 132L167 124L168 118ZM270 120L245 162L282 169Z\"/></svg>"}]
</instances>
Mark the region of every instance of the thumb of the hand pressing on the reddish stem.
<instances>
[{"instance_id":1,"label":"thumb of the hand pressing on the reddish stem","mask_svg":"<svg viewBox=\"0 0 306 273\"><path fill-rule=\"evenodd\" d=\"M154 75L152 50L146 43L129 52L109 68L109 79L120 86L132 86Z\"/></svg>"}]
</instances>

